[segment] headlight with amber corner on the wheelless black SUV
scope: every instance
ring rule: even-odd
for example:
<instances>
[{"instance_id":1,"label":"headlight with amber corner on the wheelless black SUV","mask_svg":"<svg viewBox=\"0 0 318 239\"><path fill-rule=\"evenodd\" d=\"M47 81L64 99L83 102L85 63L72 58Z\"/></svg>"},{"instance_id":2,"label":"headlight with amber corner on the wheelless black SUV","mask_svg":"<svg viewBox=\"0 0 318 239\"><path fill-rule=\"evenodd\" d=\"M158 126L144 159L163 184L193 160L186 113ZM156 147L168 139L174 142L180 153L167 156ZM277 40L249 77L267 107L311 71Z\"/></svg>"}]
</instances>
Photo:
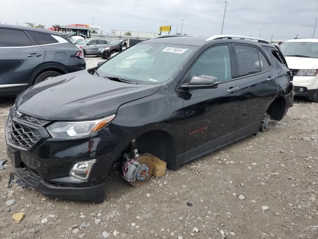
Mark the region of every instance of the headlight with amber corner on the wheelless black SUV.
<instances>
[{"instance_id":1,"label":"headlight with amber corner on the wheelless black SUV","mask_svg":"<svg viewBox=\"0 0 318 239\"><path fill-rule=\"evenodd\" d=\"M49 131L51 136L55 138L82 136L101 129L110 123L115 117L116 115L114 114L103 119L89 121L60 121L50 124L46 129Z\"/></svg>"}]
</instances>

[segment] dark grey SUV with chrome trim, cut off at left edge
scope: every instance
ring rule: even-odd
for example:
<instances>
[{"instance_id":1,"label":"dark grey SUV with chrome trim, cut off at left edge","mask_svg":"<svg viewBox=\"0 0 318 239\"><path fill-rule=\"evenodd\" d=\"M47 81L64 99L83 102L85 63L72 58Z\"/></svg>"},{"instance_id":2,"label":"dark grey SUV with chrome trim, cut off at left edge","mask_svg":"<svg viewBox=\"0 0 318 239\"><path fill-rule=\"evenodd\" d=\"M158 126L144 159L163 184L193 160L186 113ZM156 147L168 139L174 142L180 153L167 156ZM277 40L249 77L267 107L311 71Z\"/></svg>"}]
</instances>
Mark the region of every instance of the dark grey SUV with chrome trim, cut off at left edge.
<instances>
[{"instance_id":1,"label":"dark grey SUV with chrome trim, cut off at left edge","mask_svg":"<svg viewBox=\"0 0 318 239\"><path fill-rule=\"evenodd\" d=\"M17 95L51 77L83 70L83 58L65 33L0 24L0 96Z\"/></svg>"}]
</instances>

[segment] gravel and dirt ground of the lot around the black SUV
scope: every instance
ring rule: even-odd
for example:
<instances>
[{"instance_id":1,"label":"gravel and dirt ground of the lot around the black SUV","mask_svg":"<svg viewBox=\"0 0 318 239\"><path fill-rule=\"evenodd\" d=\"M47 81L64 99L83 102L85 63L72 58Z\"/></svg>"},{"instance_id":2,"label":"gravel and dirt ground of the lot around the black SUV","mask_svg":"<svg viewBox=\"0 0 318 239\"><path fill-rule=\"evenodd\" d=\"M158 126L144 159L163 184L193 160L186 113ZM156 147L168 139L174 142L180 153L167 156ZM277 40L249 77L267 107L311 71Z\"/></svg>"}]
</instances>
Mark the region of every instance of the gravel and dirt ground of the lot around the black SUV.
<instances>
[{"instance_id":1,"label":"gravel and dirt ground of the lot around the black SUV","mask_svg":"<svg viewBox=\"0 0 318 239\"><path fill-rule=\"evenodd\" d=\"M13 102L0 100L0 158ZM0 171L0 209L10 209L0 212L0 238L318 239L317 107L297 100L269 132L167 170L140 188L114 172L101 204L7 188L8 164ZM7 207L10 199L16 202ZM25 213L19 224L12 220L18 212Z\"/></svg>"}]
</instances>

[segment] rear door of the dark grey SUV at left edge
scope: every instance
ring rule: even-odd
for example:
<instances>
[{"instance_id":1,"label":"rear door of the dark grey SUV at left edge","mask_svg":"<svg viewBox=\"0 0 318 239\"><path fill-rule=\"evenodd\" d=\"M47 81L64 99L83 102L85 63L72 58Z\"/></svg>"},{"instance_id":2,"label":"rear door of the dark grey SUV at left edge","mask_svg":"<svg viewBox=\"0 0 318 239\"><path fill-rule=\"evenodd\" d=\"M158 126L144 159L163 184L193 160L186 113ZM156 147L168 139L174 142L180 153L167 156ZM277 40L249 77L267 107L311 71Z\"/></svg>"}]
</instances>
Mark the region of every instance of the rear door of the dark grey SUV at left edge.
<instances>
[{"instance_id":1,"label":"rear door of the dark grey SUV at left edge","mask_svg":"<svg viewBox=\"0 0 318 239\"><path fill-rule=\"evenodd\" d=\"M33 69L44 57L45 50L26 31L0 28L0 87L10 91L32 85Z\"/></svg>"}]
</instances>

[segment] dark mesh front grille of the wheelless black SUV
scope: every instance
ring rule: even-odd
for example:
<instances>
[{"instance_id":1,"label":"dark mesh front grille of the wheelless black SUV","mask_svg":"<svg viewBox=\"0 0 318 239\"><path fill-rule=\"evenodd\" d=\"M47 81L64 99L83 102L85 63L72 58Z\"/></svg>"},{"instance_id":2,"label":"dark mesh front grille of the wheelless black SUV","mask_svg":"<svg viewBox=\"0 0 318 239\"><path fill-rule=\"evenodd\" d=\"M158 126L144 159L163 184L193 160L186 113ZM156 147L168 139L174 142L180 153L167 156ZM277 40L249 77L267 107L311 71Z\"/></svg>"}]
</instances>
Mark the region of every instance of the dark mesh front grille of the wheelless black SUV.
<instances>
[{"instance_id":1,"label":"dark mesh front grille of the wheelless black SUV","mask_svg":"<svg viewBox=\"0 0 318 239\"><path fill-rule=\"evenodd\" d=\"M8 139L19 147L30 149L41 140L40 132L32 127L17 123L9 117L8 119Z\"/></svg>"}]
</instances>

